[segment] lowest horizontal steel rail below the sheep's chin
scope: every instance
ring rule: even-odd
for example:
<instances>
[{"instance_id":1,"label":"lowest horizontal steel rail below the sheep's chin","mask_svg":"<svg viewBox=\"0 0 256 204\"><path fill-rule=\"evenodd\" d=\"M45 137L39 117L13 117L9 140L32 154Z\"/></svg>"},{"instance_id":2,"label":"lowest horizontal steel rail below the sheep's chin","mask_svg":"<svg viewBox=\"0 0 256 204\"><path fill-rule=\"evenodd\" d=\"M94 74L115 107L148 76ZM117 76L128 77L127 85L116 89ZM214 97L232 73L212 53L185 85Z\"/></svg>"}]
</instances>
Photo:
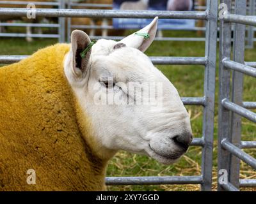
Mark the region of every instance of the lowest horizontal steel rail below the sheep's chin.
<instances>
[{"instance_id":1,"label":"lowest horizontal steel rail below the sheep's chin","mask_svg":"<svg viewBox=\"0 0 256 204\"><path fill-rule=\"evenodd\" d=\"M187 177L107 177L106 185L164 185L164 184L202 184L202 176Z\"/></svg>"}]
</instances>

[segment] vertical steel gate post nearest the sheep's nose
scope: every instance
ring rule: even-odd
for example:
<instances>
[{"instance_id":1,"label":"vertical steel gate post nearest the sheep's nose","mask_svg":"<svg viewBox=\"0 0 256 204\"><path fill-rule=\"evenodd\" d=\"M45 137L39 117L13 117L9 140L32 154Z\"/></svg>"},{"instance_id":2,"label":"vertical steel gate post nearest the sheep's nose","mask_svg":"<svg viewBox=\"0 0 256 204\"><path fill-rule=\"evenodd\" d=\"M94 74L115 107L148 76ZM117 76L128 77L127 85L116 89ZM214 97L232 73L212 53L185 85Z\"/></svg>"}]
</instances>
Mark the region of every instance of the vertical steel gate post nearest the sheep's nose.
<instances>
[{"instance_id":1,"label":"vertical steel gate post nearest the sheep's nose","mask_svg":"<svg viewBox=\"0 0 256 204\"><path fill-rule=\"evenodd\" d=\"M203 138L204 149L202 150L202 175L204 182L201 185L202 191L211 191L212 187L212 149L214 132L214 98L215 98L215 75L216 75L216 46L218 27L218 1L207 1L208 19L205 32L205 66L204 77L204 123Z\"/></svg>"}]
</instances>

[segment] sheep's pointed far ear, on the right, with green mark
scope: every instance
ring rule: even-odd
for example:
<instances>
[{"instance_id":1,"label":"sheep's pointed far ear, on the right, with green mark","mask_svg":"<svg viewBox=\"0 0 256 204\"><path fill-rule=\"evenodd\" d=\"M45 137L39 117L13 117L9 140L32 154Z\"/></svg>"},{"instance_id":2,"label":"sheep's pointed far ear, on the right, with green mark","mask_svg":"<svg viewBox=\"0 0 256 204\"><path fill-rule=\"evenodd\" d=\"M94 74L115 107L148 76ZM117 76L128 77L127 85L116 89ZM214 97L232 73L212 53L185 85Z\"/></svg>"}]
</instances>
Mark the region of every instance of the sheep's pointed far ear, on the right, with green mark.
<instances>
[{"instance_id":1,"label":"sheep's pointed far ear, on the right, with green mark","mask_svg":"<svg viewBox=\"0 0 256 204\"><path fill-rule=\"evenodd\" d=\"M154 18L149 25L140 31L127 36L121 40L120 43L124 43L127 47L134 47L141 52L145 52L156 36L157 20L158 17ZM145 34L148 34L149 36L146 36Z\"/></svg>"}]
</instances>

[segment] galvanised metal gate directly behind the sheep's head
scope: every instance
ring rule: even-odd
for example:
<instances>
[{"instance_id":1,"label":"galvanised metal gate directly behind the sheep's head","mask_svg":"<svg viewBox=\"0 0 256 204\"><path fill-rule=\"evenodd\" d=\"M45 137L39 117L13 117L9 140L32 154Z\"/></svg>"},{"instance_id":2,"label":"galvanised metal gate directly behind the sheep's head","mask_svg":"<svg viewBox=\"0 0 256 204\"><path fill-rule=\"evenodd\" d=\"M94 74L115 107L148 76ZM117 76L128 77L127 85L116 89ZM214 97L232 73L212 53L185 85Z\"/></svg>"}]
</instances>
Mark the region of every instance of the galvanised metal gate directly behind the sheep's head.
<instances>
[{"instance_id":1,"label":"galvanised metal gate directly behind the sheep's head","mask_svg":"<svg viewBox=\"0 0 256 204\"><path fill-rule=\"evenodd\" d=\"M1 8L1 15L26 17L26 9ZM64 10L37 9L38 17L101 17L101 18L176 18L205 20L205 56L202 57L150 57L154 64L194 64L205 66L204 96L182 98L184 105L204 107L203 135L195 138L192 145L202 147L201 175L186 177L108 177L107 185L149 185L149 184L200 184L202 191L211 191L212 146L214 131L214 94L216 73L216 42L218 22L218 1L207 1L205 11L114 11L114 10ZM20 61L27 56L2 55L0 63Z\"/></svg>"}]
</instances>

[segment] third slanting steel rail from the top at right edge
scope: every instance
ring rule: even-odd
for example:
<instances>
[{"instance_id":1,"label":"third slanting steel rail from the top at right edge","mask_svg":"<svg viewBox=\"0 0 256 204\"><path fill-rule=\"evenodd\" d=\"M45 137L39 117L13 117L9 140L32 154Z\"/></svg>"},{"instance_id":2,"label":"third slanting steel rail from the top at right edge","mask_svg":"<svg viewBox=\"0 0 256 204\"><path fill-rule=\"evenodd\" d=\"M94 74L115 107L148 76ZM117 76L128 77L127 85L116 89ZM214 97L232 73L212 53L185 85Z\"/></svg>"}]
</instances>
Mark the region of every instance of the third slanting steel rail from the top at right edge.
<instances>
[{"instance_id":1,"label":"third slanting steel rail from the top at right edge","mask_svg":"<svg viewBox=\"0 0 256 204\"><path fill-rule=\"evenodd\" d=\"M236 105L235 103L230 102L227 98L221 101L221 105L232 112L237 113L238 115L243 116L244 118L256 122L256 113L243 108L242 106Z\"/></svg>"}]
</instances>

